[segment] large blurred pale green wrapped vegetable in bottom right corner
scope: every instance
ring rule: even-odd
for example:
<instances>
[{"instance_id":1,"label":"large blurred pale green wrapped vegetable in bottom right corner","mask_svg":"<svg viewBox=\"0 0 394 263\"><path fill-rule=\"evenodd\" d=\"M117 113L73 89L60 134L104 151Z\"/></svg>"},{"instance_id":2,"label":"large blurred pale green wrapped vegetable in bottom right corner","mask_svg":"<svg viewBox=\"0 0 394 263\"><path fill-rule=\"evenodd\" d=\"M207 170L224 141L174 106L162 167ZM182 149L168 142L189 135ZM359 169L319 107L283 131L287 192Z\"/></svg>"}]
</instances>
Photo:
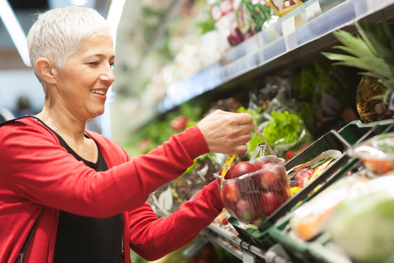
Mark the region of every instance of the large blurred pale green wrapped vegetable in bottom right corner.
<instances>
[{"instance_id":1,"label":"large blurred pale green wrapped vegetable in bottom right corner","mask_svg":"<svg viewBox=\"0 0 394 263\"><path fill-rule=\"evenodd\" d=\"M327 222L332 241L357 263L382 262L393 255L393 185L393 176L383 176L352 188Z\"/></svg>"}]
</instances>

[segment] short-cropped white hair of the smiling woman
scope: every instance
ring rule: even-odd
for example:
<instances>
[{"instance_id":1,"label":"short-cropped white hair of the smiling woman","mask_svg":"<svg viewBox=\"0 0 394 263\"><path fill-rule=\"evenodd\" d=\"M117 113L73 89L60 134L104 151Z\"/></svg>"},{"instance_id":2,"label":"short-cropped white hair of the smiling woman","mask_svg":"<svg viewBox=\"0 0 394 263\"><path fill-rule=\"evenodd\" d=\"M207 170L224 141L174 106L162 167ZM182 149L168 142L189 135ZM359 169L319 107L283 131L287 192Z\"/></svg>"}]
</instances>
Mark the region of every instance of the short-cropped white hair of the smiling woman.
<instances>
[{"instance_id":1,"label":"short-cropped white hair of the smiling woman","mask_svg":"<svg viewBox=\"0 0 394 263\"><path fill-rule=\"evenodd\" d=\"M46 82L37 73L35 63L47 58L61 71L69 56L77 52L84 41L111 36L111 27L97 10L68 6L37 14L37 21L27 36L29 59L34 74L46 91Z\"/></svg>"}]
</instances>

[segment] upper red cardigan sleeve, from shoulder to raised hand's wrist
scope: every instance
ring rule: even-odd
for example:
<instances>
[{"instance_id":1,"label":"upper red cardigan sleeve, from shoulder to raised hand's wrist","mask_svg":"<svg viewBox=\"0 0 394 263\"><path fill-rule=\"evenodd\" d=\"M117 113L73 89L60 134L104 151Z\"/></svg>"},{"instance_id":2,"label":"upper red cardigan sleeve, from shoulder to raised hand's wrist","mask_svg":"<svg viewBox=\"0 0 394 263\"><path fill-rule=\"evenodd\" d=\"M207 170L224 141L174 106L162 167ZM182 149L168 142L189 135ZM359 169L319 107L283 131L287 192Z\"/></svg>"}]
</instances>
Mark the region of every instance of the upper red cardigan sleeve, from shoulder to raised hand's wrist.
<instances>
[{"instance_id":1,"label":"upper red cardigan sleeve, from shoulder to raised hand's wrist","mask_svg":"<svg viewBox=\"0 0 394 263\"><path fill-rule=\"evenodd\" d=\"M7 129L7 131L5 131ZM111 156L124 154L105 152ZM175 134L147 155L96 172L38 125L0 129L0 185L29 200L77 215L108 217L142 205L208 152L198 127Z\"/></svg>"}]
</instances>

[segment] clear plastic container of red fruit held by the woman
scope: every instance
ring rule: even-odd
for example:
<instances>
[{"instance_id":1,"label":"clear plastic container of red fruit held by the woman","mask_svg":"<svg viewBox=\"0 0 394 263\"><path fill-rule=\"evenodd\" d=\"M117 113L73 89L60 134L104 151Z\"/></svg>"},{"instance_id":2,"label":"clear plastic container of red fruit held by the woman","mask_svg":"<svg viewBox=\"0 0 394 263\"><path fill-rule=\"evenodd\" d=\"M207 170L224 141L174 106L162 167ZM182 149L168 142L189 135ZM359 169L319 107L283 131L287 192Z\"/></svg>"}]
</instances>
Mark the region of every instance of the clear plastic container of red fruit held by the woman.
<instances>
[{"instance_id":1,"label":"clear plastic container of red fruit held by the woman","mask_svg":"<svg viewBox=\"0 0 394 263\"><path fill-rule=\"evenodd\" d=\"M290 198L284 159L267 155L247 163L256 170L233 179L223 179L222 186L220 173L214 173L227 212L244 223L265 218ZM227 174L236 171L239 164Z\"/></svg>"}]
</instances>

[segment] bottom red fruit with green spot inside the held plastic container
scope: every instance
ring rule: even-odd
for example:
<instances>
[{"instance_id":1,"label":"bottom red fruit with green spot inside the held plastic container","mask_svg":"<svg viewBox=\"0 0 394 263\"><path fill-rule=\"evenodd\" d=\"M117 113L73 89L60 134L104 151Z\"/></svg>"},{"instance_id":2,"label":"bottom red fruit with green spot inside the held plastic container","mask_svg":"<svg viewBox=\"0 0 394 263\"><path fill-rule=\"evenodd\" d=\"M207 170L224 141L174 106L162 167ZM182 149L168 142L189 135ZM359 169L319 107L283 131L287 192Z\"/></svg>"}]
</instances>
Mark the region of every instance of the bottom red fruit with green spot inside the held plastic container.
<instances>
[{"instance_id":1,"label":"bottom red fruit with green spot inside the held plastic container","mask_svg":"<svg viewBox=\"0 0 394 263\"><path fill-rule=\"evenodd\" d=\"M252 222L262 215L258 199L259 195L255 194L242 198L236 203L235 210L238 215L238 220L242 222Z\"/></svg>"}]
</instances>

